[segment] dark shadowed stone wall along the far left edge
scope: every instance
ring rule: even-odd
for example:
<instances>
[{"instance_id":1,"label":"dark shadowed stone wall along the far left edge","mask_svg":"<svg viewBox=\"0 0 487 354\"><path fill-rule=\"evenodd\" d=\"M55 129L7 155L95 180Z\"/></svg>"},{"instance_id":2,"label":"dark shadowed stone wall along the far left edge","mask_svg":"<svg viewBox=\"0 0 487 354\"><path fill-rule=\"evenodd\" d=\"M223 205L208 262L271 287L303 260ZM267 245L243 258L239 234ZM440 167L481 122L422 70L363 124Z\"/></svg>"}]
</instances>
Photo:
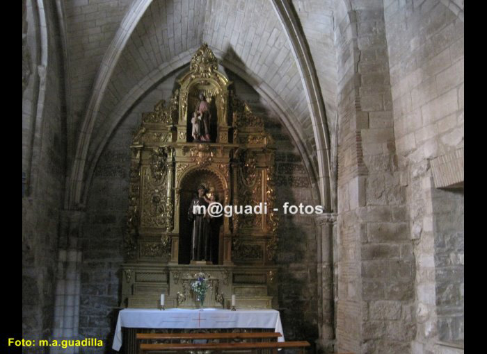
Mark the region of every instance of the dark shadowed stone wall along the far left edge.
<instances>
[{"instance_id":1,"label":"dark shadowed stone wall along the far left edge","mask_svg":"<svg viewBox=\"0 0 487 354\"><path fill-rule=\"evenodd\" d=\"M35 61L31 62L32 74L22 96L22 139L29 142L22 150L22 171L27 177L22 197L22 335L47 339L54 317L59 214L65 183L63 66L54 3L39 11L47 23L47 37L41 42L33 41L38 31L33 14L38 10L32 8L31 1L25 10L30 58ZM47 56L46 62L33 55L37 49ZM49 94L44 96L44 92ZM31 353L40 352L42 348L31 348Z\"/></svg>"}]
</instances>

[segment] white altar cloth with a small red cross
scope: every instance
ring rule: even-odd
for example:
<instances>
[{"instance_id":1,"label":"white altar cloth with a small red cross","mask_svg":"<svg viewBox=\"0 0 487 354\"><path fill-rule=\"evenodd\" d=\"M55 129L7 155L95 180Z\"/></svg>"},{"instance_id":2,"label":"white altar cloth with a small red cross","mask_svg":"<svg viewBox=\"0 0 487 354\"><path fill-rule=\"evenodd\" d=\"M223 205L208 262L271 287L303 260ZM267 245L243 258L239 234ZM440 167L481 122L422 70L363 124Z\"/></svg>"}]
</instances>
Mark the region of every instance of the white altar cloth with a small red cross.
<instances>
[{"instance_id":1,"label":"white altar cloth with a small red cross","mask_svg":"<svg viewBox=\"0 0 487 354\"><path fill-rule=\"evenodd\" d=\"M205 308L167 310L127 308L118 313L113 345L115 351L122 346L122 327L127 328L273 328L282 337L284 332L280 314L276 310L224 310Z\"/></svg>"}]
</instances>

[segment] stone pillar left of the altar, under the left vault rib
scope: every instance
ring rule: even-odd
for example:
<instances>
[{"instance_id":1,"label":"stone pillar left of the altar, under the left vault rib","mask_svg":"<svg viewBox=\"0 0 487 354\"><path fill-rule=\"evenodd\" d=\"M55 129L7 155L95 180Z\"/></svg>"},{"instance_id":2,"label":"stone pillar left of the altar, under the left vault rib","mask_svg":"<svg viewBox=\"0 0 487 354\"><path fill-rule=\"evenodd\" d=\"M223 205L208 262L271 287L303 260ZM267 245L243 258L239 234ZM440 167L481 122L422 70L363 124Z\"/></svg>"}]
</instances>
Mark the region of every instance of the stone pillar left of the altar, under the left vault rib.
<instances>
[{"instance_id":1,"label":"stone pillar left of the altar, under the left vault rib","mask_svg":"<svg viewBox=\"0 0 487 354\"><path fill-rule=\"evenodd\" d=\"M63 210L56 275L53 338L79 339L79 296L81 294L81 250L79 229L84 212ZM79 353L79 347L50 347L49 353Z\"/></svg>"}]
</instances>

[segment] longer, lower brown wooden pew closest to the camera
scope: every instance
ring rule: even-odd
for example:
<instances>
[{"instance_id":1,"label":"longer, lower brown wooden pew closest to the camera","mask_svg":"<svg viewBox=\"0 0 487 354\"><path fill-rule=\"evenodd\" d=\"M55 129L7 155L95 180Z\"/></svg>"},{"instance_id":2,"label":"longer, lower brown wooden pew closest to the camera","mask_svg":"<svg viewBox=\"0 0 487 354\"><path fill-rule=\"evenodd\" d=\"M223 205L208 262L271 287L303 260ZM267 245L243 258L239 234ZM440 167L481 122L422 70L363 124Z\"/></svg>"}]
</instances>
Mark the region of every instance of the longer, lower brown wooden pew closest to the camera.
<instances>
[{"instance_id":1,"label":"longer, lower brown wooden pew closest to the camera","mask_svg":"<svg viewBox=\"0 0 487 354\"><path fill-rule=\"evenodd\" d=\"M296 342L242 342L242 343L207 343L207 344L141 344L140 353L146 354L152 351L241 351L241 350L271 350L278 353L281 348L299 348L304 353L304 348L310 346L306 341Z\"/></svg>"}]
</instances>

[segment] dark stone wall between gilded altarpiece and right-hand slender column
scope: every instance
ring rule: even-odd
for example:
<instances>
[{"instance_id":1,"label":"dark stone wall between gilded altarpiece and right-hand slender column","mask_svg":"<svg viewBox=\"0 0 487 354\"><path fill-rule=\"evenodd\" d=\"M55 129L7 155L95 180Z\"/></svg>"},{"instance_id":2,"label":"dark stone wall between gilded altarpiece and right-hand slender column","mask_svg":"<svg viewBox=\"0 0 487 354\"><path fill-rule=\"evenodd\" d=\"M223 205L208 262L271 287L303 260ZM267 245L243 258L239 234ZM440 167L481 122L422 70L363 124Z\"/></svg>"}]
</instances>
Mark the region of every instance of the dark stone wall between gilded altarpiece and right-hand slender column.
<instances>
[{"instance_id":1,"label":"dark stone wall between gilded altarpiece and right-hand slender column","mask_svg":"<svg viewBox=\"0 0 487 354\"><path fill-rule=\"evenodd\" d=\"M303 159L267 103L244 81L227 72L237 96L246 100L264 119L264 126L276 141L276 206L279 212L277 264L279 307L288 340L318 338L317 235L312 216L283 214L282 205L316 205Z\"/></svg>"}]
</instances>

